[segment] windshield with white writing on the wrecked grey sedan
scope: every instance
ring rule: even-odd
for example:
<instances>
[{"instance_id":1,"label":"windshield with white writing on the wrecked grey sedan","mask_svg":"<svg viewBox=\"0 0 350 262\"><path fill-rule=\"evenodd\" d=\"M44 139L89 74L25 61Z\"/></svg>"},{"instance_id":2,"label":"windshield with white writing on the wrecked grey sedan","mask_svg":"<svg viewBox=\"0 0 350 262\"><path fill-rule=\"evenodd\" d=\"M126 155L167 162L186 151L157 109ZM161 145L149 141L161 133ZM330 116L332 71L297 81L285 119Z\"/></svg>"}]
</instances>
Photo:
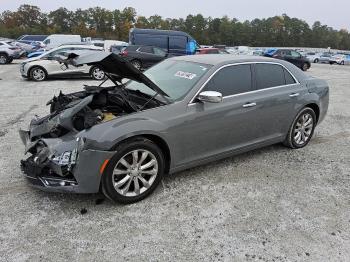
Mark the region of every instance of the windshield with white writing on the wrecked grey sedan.
<instances>
[{"instance_id":1,"label":"windshield with white writing on the wrecked grey sedan","mask_svg":"<svg viewBox=\"0 0 350 262\"><path fill-rule=\"evenodd\" d=\"M152 80L160 89L169 95L169 100L181 100L202 76L211 68L211 65L186 61L165 60L144 74ZM130 81L126 87L131 90L139 90L148 95L156 92L143 83Z\"/></svg>"}]
</instances>

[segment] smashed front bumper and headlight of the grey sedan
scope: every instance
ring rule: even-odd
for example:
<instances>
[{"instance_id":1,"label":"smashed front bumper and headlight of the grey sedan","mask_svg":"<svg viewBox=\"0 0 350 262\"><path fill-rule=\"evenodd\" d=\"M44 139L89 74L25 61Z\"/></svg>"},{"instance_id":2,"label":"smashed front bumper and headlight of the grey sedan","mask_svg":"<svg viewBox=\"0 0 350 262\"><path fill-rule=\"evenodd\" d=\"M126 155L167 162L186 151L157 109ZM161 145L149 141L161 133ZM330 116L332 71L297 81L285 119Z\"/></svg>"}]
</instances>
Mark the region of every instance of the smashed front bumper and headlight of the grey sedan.
<instances>
[{"instance_id":1,"label":"smashed front bumper and headlight of the grey sedan","mask_svg":"<svg viewBox=\"0 0 350 262\"><path fill-rule=\"evenodd\" d=\"M26 151L32 153L21 161L21 169L34 187L51 192L99 191L100 168L115 152L85 149L75 136L30 142L29 132L19 133Z\"/></svg>"}]
</instances>

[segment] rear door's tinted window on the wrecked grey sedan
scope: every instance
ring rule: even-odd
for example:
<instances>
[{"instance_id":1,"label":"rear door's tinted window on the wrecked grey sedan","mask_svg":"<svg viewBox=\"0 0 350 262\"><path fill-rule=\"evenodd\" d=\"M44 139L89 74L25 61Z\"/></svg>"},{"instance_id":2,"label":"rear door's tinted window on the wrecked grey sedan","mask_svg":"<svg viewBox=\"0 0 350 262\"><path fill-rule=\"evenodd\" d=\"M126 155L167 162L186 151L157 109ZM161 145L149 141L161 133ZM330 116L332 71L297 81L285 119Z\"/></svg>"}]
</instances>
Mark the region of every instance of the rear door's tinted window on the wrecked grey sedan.
<instances>
[{"instance_id":1,"label":"rear door's tinted window on the wrecked grey sedan","mask_svg":"<svg viewBox=\"0 0 350 262\"><path fill-rule=\"evenodd\" d=\"M257 89L270 88L285 85L284 69L280 65L256 64Z\"/></svg>"}]
</instances>

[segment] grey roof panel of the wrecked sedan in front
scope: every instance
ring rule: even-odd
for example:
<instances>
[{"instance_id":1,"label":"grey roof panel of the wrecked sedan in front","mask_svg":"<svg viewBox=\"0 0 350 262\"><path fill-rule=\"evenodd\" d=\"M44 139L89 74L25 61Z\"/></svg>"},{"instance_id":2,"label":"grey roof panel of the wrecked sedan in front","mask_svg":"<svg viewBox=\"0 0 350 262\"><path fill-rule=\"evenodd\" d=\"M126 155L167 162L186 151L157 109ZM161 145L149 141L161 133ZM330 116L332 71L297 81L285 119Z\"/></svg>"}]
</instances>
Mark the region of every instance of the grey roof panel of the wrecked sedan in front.
<instances>
[{"instance_id":1,"label":"grey roof panel of the wrecked sedan in front","mask_svg":"<svg viewBox=\"0 0 350 262\"><path fill-rule=\"evenodd\" d=\"M177 56L171 59L208 64L208 65L218 65L218 64L225 64L225 63L246 63L246 62L273 62L273 61L281 63L281 60L276 60L268 57L237 56L232 54L189 55L189 56Z\"/></svg>"}]
</instances>

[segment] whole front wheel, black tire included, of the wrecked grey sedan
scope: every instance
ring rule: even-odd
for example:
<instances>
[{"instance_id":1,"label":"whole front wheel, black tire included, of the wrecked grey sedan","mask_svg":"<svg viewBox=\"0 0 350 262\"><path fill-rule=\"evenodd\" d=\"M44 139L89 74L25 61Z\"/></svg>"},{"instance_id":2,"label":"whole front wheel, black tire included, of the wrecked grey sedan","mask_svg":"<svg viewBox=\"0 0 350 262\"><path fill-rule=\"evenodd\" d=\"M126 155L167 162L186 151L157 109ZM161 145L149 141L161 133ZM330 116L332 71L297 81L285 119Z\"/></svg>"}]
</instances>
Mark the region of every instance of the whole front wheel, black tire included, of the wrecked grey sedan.
<instances>
[{"instance_id":1,"label":"whole front wheel, black tire included, of the wrecked grey sedan","mask_svg":"<svg viewBox=\"0 0 350 262\"><path fill-rule=\"evenodd\" d=\"M152 141L144 138L128 140L117 146L116 151L102 174L103 194L121 204L145 199L163 178L163 152ZM137 155L135 162L134 154Z\"/></svg>"}]
</instances>

